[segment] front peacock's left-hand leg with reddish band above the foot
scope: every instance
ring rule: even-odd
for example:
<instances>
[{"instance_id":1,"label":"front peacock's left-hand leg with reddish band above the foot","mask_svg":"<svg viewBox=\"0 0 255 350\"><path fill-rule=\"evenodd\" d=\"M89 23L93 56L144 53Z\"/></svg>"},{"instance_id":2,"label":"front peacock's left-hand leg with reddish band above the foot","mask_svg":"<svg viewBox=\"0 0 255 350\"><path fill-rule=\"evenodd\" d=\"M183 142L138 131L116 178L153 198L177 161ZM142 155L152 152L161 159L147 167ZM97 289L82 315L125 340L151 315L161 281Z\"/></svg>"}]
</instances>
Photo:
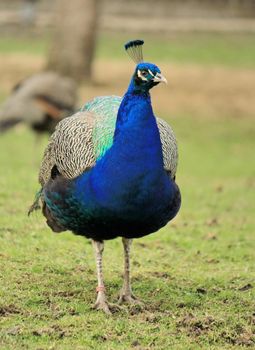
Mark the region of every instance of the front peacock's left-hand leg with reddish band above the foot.
<instances>
[{"instance_id":1,"label":"front peacock's left-hand leg with reddish band above the foot","mask_svg":"<svg viewBox=\"0 0 255 350\"><path fill-rule=\"evenodd\" d=\"M109 309L109 305L106 300L105 295L105 287L103 281L103 268L102 268L102 255L104 251L104 242L103 241L94 241L92 240L94 250L95 250L95 258L96 258L96 266L97 266L97 300L95 302L94 308L98 310L103 310L107 314L111 314Z\"/></svg>"}]
</instances>

